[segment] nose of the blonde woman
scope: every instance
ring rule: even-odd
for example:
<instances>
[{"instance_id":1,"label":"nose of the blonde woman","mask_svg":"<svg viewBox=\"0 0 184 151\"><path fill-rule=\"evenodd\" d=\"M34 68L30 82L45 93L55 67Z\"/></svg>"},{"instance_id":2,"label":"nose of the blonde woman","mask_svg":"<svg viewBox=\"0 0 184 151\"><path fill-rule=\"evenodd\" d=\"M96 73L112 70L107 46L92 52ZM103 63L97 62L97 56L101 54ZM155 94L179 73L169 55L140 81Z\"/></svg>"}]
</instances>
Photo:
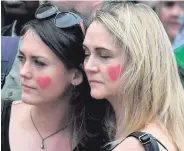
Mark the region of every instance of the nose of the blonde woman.
<instances>
[{"instance_id":1,"label":"nose of the blonde woman","mask_svg":"<svg viewBox=\"0 0 184 151\"><path fill-rule=\"evenodd\" d=\"M98 72L99 67L97 65L97 61L92 57L88 57L84 60L84 70L86 72Z\"/></svg>"}]
</instances>

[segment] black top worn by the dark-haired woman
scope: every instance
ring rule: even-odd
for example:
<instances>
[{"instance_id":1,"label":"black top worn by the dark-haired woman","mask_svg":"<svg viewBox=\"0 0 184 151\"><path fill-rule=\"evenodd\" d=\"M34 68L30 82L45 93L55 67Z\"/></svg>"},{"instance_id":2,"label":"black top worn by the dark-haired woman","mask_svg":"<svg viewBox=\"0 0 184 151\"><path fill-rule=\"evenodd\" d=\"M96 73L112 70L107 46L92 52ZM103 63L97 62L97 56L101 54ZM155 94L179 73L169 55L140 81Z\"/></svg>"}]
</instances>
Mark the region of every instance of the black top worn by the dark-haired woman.
<instances>
[{"instance_id":1,"label":"black top worn by the dark-haired woman","mask_svg":"<svg viewBox=\"0 0 184 151\"><path fill-rule=\"evenodd\" d=\"M9 123L11 114L12 101L6 100L1 102L1 151L10 151L9 144ZM100 121L101 122L101 121ZM102 131L102 126L98 123L91 125L87 123L87 127L96 130L96 136L87 139L84 145L79 144L73 151L102 151L105 145L105 134ZM98 126L97 126L98 125ZM90 129L90 128L89 128Z\"/></svg>"}]
</instances>

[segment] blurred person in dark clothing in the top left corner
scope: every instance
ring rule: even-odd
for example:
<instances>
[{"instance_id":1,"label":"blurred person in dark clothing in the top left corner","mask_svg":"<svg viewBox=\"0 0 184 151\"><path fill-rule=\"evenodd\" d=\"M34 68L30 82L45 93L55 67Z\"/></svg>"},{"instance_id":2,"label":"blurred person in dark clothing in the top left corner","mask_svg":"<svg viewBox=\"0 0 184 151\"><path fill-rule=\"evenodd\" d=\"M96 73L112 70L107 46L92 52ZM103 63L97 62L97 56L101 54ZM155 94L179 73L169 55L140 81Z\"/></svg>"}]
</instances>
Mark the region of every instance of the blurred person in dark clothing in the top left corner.
<instances>
[{"instance_id":1,"label":"blurred person in dark clothing in the top left corner","mask_svg":"<svg viewBox=\"0 0 184 151\"><path fill-rule=\"evenodd\" d=\"M39 1L2 1L2 7L6 18L4 17L4 26L1 27L1 35L19 36L22 26L35 18Z\"/></svg>"}]
</instances>

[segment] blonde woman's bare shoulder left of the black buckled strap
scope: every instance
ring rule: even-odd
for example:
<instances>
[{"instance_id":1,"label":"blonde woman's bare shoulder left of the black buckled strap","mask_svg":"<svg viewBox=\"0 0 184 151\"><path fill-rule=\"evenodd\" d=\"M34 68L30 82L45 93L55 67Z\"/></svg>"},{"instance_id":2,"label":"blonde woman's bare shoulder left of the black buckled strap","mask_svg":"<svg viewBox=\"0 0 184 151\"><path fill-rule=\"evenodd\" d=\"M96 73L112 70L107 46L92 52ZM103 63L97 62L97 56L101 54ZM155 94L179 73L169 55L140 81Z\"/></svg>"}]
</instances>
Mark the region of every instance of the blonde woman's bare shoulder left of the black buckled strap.
<instances>
[{"instance_id":1,"label":"blonde woman's bare shoulder left of the black buckled strap","mask_svg":"<svg viewBox=\"0 0 184 151\"><path fill-rule=\"evenodd\" d=\"M128 137L121 142L113 151L144 151L142 144L134 137Z\"/></svg>"}]
</instances>

